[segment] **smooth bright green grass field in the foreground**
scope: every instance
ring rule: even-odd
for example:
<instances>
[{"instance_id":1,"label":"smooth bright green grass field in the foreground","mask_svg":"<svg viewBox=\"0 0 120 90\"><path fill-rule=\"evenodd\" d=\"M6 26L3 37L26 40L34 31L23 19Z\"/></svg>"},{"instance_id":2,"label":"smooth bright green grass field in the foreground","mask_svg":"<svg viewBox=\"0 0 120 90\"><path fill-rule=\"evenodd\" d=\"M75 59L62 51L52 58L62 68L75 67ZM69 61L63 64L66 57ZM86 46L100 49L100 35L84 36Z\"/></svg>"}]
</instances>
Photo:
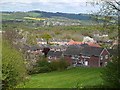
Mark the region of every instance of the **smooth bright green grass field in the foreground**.
<instances>
[{"instance_id":1,"label":"smooth bright green grass field in the foreground","mask_svg":"<svg viewBox=\"0 0 120 90\"><path fill-rule=\"evenodd\" d=\"M31 75L25 85L19 88L76 88L99 86L103 83L100 72L102 68L72 68Z\"/></svg>"}]
</instances>

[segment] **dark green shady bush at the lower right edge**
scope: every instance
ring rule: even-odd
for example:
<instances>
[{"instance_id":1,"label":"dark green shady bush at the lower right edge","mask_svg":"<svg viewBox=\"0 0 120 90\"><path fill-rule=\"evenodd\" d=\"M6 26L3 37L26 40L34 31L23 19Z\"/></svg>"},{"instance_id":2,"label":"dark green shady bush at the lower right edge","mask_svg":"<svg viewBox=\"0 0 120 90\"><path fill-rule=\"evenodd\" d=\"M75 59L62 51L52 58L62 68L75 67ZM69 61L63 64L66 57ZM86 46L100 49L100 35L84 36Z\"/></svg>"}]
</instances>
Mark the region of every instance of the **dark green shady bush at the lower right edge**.
<instances>
[{"instance_id":1,"label":"dark green shady bush at the lower right edge","mask_svg":"<svg viewBox=\"0 0 120 90\"><path fill-rule=\"evenodd\" d=\"M118 56L114 56L112 61L102 71L102 78L105 84L111 88L120 87L120 61Z\"/></svg>"}]
</instances>

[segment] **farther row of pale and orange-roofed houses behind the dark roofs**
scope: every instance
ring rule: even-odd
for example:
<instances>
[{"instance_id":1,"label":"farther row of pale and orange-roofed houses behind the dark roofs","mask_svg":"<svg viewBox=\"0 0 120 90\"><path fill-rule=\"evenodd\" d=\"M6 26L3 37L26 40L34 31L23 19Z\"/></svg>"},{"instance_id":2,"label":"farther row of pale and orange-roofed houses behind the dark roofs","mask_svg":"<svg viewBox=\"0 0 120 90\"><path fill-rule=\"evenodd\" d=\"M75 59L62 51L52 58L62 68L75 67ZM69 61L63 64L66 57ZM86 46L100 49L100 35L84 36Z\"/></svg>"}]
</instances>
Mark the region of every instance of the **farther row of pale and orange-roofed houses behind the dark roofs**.
<instances>
[{"instance_id":1,"label":"farther row of pale and orange-roofed houses behind the dark roofs","mask_svg":"<svg viewBox=\"0 0 120 90\"><path fill-rule=\"evenodd\" d=\"M116 41L112 41L112 40L99 40L97 38L91 38L89 36L84 36L83 37L83 41L74 41L74 40L68 40L68 39L50 39L48 42L47 40L43 39L43 38L37 38L37 44L51 44L51 45L73 45L73 44L83 44L83 43L87 43L87 44L94 44L97 47L100 47L100 45L102 44L106 44L108 46L113 46L114 43L116 43Z\"/></svg>"}]
</instances>

